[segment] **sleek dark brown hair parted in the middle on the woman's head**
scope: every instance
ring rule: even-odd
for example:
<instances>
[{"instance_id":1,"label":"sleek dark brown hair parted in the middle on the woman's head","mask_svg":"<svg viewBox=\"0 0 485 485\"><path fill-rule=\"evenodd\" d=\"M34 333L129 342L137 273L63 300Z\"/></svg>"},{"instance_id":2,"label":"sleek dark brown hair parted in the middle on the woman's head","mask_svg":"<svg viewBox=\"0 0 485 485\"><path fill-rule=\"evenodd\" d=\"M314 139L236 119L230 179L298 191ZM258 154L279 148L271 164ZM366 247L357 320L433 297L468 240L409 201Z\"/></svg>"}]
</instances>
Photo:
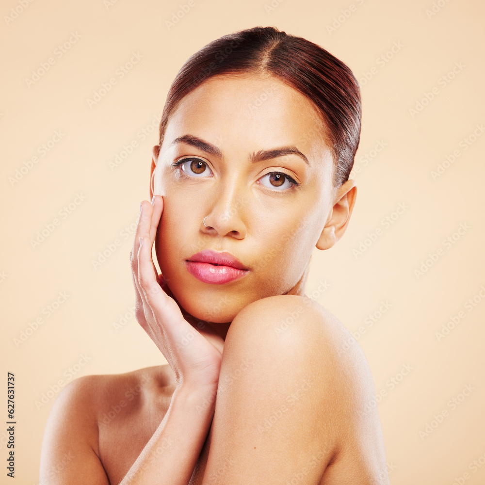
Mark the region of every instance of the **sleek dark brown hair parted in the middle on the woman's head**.
<instances>
[{"instance_id":1,"label":"sleek dark brown hair parted in the middle on the woman's head","mask_svg":"<svg viewBox=\"0 0 485 485\"><path fill-rule=\"evenodd\" d=\"M333 148L334 186L346 182L360 139L358 82L350 68L325 49L275 27L223 35L185 62L163 108L160 146L169 116L183 97L212 76L242 73L275 76L313 102L327 127L323 135Z\"/></svg>"}]
</instances>

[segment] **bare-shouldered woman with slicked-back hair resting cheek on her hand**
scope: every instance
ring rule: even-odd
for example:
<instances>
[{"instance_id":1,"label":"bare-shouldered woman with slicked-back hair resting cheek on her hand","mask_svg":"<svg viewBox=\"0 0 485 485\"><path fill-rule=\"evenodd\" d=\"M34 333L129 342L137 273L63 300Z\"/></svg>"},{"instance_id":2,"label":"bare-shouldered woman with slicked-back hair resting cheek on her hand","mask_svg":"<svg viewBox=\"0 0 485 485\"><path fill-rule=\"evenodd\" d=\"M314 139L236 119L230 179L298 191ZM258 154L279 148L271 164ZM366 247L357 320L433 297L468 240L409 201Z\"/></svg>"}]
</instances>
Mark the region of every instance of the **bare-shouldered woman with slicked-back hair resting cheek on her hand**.
<instances>
[{"instance_id":1,"label":"bare-shouldered woman with slicked-back hair resting cheek on her hand","mask_svg":"<svg viewBox=\"0 0 485 485\"><path fill-rule=\"evenodd\" d=\"M360 113L346 65L272 27L185 63L130 256L168 364L64 388L42 484L389 483L366 359L305 295L355 204Z\"/></svg>"}]
</instances>

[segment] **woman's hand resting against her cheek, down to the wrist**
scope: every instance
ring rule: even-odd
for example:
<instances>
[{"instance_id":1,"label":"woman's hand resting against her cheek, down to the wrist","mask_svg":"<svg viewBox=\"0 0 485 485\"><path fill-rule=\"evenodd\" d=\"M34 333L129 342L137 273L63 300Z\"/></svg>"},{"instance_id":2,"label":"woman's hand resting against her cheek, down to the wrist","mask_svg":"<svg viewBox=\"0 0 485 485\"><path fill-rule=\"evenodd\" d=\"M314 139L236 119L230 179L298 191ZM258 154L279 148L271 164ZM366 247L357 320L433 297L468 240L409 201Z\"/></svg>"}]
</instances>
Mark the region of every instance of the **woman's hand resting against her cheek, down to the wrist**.
<instances>
[{"instance_id":1,"label":"woman's hand resting against her cheek, down to the wrist","mask_svg":"<svg viewBox=\"0 0 485 485\"><path fill-rule=\"evenodd\" d=\"M177 300L153 263L152 247L163 205L161 195L154 195L151 204L147 201L140 204L130 253L136 320L162 352L178 385L217 386L224 339L207 324L203 326L203 335L194 328L194 317L186 314L188 321L184 318Z\"/></svg>"}]
</instances>

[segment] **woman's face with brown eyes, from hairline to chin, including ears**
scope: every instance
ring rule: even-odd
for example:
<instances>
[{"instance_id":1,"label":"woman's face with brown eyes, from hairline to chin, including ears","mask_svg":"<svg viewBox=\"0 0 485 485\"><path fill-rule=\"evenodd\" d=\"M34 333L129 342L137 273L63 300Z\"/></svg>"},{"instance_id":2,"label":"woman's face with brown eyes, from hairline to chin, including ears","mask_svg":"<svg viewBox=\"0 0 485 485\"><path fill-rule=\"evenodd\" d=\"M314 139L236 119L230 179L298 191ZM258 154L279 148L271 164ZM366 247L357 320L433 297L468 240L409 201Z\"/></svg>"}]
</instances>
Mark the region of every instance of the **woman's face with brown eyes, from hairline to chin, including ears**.
<instances>
[{"instance_id":1,"label":"woman's face with brown eyes, from hairline to chin, including ears","mask_svg":"<svg viewBox=\"0 0 485 485\"><path fill-rule=\"evenodd\" d=\"M195 318L231 322L253 301L304 294L313 248L343 232L332 228L332 208L354 186L333 187L323 129L312 103L275 77L212 77L172 113L154 147L151 190L164 200L155 249L170 290ZM187 261L204 249L228 252L248 271L202 281L193 274L201 263Z\"/></svg>"}]
</instances>

